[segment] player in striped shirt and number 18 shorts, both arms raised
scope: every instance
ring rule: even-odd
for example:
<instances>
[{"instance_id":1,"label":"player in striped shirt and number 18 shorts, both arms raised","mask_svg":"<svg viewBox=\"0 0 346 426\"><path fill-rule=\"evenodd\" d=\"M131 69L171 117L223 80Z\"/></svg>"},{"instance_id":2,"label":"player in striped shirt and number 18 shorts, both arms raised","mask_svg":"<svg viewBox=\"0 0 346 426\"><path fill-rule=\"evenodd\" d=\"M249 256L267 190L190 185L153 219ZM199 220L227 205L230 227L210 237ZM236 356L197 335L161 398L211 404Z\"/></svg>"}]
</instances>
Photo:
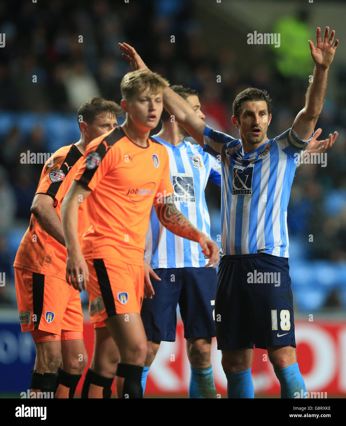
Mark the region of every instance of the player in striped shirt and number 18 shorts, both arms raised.
<instances>
[{"instance_id":1,"label":"player in striped shirt and number 18 shorts, both arms raised","mask_svg":"<svg viewBox=\"0 0 346 426\"><path fill-rule=\"evenodd\" d=\"M221 252L215 298L218 349L229 398L253 398L253 347L268 351L282 398L305 392L294 337L288 267L287 206L297 153L308 145L323 107L329 66L338 40L317 28L313 82L293 126L267 138L271 121L265 90L249 88L233 102L232 122L240 139L206 126L186 102L166 88L163 101L204 150L221 161ZM334 43L334 44L333 44ZM146 68L137 52L121 44L134 69Z\"/></svg>"}]
</instances>

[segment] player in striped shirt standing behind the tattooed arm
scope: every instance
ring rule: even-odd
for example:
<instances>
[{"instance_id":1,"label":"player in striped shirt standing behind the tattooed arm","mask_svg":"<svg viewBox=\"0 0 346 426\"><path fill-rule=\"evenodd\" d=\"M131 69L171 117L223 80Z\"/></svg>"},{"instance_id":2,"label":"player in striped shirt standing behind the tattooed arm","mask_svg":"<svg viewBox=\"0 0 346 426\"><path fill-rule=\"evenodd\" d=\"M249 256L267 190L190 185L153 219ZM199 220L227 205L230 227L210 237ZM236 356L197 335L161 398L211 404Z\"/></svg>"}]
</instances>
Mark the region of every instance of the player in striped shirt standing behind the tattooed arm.
<instances>
[{"instance_id":1,"label":"player in striped shirt standing behind the tattooed arm","mask_svg":"<svg viewBox=\"0 0 346 426\"><path fill-rule=\"evenodd\" d=\"M171 89L192 107L198 118L204 119L195 90L183 86L172 86ZM210 235L204 191L208 179L221 186L221 164L203 152L200 145L186 141L186 130L165 110L161 121L162 129L152 137L169 153L174 203L191 223ZM212 337L215 337L215 269L205 268L206 258L198 244L174 235L162 226L154 209L145 237L144 260L161 281L145 280L149 297L143 301L141 316L148 339L148 354L142 373L143 393L160 342L175 341L179 304L191 368L189 397L215 398L210 363Z\"/></svg>"}]
</instances>

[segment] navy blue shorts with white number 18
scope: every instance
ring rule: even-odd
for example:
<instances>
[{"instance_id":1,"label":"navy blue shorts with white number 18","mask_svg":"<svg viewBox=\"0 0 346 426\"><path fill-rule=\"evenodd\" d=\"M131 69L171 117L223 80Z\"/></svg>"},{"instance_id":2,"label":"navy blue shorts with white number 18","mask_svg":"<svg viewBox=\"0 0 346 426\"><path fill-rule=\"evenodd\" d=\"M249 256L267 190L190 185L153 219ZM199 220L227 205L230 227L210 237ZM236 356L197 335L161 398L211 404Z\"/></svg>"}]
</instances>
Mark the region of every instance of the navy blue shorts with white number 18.
<instances>
[{"instance_id":1,"label":"navy blue shorts with white number 18","mask_svg":"<svg viewBox=\"0 0 346 426\"><path fill-rule=\"evenodd\" d=\"M218 349L293 345L288 259L270 254L222 256L215 297Z\"/></svg>"}]
</instances>

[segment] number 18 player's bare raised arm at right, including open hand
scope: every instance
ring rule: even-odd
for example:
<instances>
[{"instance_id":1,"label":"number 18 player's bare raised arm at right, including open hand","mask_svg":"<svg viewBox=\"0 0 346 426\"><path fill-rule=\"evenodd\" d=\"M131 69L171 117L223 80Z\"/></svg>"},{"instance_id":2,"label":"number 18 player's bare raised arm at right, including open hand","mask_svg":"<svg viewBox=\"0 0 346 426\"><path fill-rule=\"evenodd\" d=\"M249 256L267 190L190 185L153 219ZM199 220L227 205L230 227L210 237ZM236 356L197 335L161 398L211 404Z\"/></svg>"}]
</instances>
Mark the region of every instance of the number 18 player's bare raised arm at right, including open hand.
<instances>
[{"instance_id":1,"label":"number 18 player's bare raised arm at right, including open hand","mask_svg":"<svg viewBox=\"0 0 346 426\"><path fill-rule=\"evenodd\" d=\"M318 27L316 47L311 40L308 40L311 56L315 63L313 81L306 92L305 107L298 113L293 124L294 130L302 141L310 138L322 111L329 65L333 61L335 49L339 44L339 40L336 40L333 45L334 35L335 31L333 30L329 37L329 27L326 27L322 41L321 29Z\"/></svg>"}]
</instances>

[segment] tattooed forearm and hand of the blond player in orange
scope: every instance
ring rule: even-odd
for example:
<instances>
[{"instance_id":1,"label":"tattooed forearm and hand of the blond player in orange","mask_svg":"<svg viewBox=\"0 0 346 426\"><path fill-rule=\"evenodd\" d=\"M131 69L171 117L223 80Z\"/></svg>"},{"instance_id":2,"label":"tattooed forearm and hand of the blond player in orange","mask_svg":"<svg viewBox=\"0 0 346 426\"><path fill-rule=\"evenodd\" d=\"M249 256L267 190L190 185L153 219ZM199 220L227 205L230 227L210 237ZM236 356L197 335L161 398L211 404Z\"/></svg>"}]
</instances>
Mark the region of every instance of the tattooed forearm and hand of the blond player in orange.
<instances>
[{"instance_id":1,"label":"tattooed forearm and hand of the blond player in orange","mask_svg":"<svg viewBox=\"0 0 346 426\"><path fill-rule=\"evenodd\" d=\"M154 200L154 207L156 210L157 218L172 233L196 241L201 245L202 253L209 257L209 263L213 268L218 264L218 245L208 238L202 231L197 229L180 211L175 207L174 201L171 197L163 198L163 202Z\"/></svg>"}]
</instances>

